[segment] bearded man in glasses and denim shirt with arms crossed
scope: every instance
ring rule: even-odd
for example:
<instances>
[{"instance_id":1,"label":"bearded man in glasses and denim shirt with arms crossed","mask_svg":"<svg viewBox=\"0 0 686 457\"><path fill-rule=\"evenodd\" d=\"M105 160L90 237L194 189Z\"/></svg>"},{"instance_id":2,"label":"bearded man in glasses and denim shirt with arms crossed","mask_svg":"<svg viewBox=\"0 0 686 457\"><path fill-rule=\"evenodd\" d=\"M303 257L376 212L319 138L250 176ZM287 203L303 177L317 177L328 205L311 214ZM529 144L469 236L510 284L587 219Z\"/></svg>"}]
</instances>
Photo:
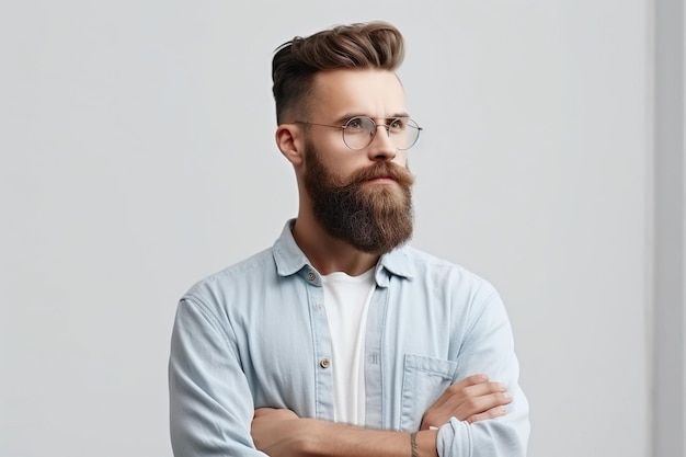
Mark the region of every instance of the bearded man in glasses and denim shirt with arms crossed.
<instances>
[{"instance_id":1,"label":"bearded man in glasses and denim shirt with arms crossed","mask_svg":"<svg viewBox=\"0 0 686 457\"><path fill-rule=\"evenodd\" d=\"M192 287L170 357L174 455L524 456L528 404L503 304L418 251L392 25L296 37L273 59L297 218ZM264 453L264 454L263 454Z\"/></svg>"}]
</instances>

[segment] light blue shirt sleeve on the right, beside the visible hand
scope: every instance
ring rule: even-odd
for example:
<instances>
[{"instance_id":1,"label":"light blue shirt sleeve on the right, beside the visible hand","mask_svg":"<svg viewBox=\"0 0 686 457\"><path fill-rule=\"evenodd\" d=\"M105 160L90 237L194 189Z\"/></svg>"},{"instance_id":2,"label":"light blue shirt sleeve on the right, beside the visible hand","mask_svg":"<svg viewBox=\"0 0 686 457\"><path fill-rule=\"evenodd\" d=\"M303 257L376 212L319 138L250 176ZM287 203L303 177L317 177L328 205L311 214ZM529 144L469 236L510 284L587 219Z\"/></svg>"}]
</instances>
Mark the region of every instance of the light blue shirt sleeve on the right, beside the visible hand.
<instances>
[{"instance_id":1,"label":"light blue shirt sleeve on the right, beside the visible hand","mask_svg":"<svg viewBox=\"0 0 686 457\"><path fill-rule=\"evenodd\" d=\"M492 288L472 301L472 322L458 355L458 379L477 373L507 385L513 401L503 416L475 422L451 418L436 441L441 457L524 457L529 436L528 401L518 384L519 364L505 307ZM488 290L487 290L488 292Z\"/></svg>"}]
</instances>

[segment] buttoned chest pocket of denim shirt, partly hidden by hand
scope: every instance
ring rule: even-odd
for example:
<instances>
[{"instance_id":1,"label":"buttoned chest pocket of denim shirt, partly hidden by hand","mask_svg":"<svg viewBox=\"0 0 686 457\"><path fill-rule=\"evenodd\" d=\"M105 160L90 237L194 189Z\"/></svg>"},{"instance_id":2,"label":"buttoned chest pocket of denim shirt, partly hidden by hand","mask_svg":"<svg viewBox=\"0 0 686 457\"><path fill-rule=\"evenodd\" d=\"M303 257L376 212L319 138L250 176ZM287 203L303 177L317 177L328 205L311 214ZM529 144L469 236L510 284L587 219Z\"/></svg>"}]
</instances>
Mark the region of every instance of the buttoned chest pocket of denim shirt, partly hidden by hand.
<instances>
[{"instance_id":1,"label":"buttoned chest pocket of denim shirt, partly hidden by hand","mask_svg":"<svg viewBox=\"0 0 686 457\"><path fill-rule=\"evenodd\" d=\"M450 386L456 369L457 362L405 354L400 421L403 431L419 430L424 412Z\"/></svg>"}]
</instances>

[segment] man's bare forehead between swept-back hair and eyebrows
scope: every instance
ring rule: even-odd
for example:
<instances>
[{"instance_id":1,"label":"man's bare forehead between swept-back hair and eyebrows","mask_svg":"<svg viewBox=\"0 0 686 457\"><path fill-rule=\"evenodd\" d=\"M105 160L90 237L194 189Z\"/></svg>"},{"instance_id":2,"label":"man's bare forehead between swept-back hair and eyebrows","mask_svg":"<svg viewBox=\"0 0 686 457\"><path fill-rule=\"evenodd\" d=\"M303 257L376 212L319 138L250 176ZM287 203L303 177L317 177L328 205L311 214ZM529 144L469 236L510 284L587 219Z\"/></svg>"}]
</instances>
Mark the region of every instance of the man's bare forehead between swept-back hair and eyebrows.
<instances>
[{"instance_id":1,"label":"man's bare forehead between swept-back hair and eyebrows","mask_svg":"<svg viewBox=\"0 0 686 457\"><path fill-rule=\"evenodd\" d=\"M405 112L404 92L392 71L331 70L315 76L312 116L317 122L354 115L392 117Z\"/></svg>"}]
</instances>

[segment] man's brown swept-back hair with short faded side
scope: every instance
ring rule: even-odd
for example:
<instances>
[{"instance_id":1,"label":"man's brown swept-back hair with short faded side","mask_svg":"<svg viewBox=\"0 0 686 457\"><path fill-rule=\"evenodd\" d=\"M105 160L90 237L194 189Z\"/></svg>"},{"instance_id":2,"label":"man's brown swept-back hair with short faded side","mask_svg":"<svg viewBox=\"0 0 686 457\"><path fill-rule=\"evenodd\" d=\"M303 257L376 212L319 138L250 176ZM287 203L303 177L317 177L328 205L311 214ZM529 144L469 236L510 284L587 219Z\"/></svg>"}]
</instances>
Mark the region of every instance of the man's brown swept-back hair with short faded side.
<instances>
[{"instance_id":1,"label":"man's brown swept-back hair with short faded side","mask_svg":"<svg viewBox=\"0 0 686 457\"><path fill-rule=\"evenodd\" d=\"M402 64L404 43L393 25L375 21L339 25L308 37L296 36L276 48L272 81L276 122L302 114L311 94L315 75L335 69L395 71Z\"/></svg>"}]
</instances>

